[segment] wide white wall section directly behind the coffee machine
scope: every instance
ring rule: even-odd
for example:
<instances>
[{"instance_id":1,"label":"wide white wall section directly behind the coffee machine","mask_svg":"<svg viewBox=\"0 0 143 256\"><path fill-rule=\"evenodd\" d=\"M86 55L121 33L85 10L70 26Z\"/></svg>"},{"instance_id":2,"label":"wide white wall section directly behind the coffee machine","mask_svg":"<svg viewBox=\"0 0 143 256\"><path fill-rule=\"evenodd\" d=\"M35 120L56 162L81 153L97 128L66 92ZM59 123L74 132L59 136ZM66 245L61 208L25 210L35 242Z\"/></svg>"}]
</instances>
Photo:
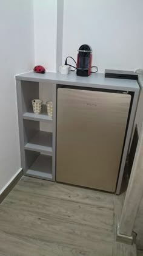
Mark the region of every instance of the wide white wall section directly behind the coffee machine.
<instances>
[{"instance_id":1,"label":"wide white wall section directly behind the coffee machine","mask_svg":"<svg viewBox=\"0 0 143 256\"><path fill-rule=\"evenodd\" d=\"M63 63L89 44L99 72L143 68L142 10L142 0L65 0Z\"/></svg>"}]
</instances>

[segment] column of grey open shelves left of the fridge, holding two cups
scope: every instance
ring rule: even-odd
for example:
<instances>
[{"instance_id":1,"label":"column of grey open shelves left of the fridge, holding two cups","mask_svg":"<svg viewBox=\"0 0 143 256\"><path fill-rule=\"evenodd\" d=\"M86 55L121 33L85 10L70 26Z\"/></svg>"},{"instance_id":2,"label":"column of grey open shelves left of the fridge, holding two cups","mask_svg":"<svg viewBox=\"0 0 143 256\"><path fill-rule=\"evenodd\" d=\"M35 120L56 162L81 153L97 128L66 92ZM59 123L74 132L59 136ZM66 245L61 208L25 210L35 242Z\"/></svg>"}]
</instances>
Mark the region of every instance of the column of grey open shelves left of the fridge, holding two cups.
<instances>
[{"instance_id":1,"label":"column of grey open shelves left of the fridge, holding two cups","mask_svg":"<svg viewBox=\"0 0 143 256\"><path fill-rule=\"evenodd\" d=\"M53 117L47 115L42 105L39 115L33 113L32 99L39 99L39 82L17 81L21 165L26 176L55 180L56 143L56 85L49 87L52 95ZM47 95L48 98L48 95ZM49 124L52 131L41 130L41 122Z\"/></svg>"}]
</instances>

